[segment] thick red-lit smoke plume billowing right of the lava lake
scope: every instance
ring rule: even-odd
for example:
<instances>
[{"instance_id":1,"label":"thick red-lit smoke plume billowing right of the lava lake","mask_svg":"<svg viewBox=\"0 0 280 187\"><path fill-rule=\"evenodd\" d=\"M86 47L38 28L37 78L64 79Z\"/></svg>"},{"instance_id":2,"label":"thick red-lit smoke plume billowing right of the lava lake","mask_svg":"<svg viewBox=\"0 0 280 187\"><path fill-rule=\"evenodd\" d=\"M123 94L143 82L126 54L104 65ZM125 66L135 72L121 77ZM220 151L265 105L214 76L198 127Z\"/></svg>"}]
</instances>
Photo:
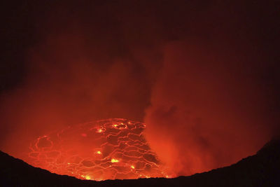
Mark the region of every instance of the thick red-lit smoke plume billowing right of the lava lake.
<instances>
[{"instance_id":1,"label":"thick red-lit smoke plume billowing right of the lava lake","mask_svg":"<svg viewBox=\"0 0 280 187\"><path fill-rule=\"evenodd\" d=\"M146 110L147 141L178 175L230 165L269 139L267 99L255 81L258 59L248 49L245 57L208 45L165 48Z\"/></svg>"}]
</instances>

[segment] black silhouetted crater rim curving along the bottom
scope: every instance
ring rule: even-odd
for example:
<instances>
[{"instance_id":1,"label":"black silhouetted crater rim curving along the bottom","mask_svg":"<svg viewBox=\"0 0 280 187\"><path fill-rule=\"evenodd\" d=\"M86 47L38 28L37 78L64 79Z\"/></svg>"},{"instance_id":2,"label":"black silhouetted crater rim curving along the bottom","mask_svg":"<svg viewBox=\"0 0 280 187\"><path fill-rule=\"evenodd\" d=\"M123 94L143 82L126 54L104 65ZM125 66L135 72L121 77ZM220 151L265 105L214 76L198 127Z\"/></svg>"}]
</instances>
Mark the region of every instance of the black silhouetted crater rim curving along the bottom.
<instances>
[{"instance_id":1,"label":"black silhouetted crater rim curving along the bottom","mask_svg":"<svg viewBox=\"0 0 280 187\"><path fill-rule=\"evenodd\" d=\"M280 186L280 140L234 165L176 179L82 181L52 174L0 151L0 186Z\"/></svg>"}]
</instances>

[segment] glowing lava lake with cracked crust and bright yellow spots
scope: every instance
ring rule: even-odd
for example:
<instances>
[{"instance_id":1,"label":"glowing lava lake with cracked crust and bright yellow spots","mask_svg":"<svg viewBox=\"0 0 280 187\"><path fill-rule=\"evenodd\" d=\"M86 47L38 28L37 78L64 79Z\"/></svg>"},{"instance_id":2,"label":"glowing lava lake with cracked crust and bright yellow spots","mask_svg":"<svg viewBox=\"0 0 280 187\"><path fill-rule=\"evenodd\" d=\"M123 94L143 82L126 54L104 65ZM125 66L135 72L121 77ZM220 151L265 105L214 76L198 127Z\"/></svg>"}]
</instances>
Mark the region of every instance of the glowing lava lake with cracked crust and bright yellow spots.
<instances>
[{"instance_id":1,"label":"glowing lava lake with cracked crust and bright yellow spots","mask_svg":"<svg viewBox=\"0 0 280 187\"><path fill-rule=\"evenodd\" d=\"M113 118L38 137L27 162L78 179L169 177L143 134L146 125Z\"/></svg>"}]
</instances>

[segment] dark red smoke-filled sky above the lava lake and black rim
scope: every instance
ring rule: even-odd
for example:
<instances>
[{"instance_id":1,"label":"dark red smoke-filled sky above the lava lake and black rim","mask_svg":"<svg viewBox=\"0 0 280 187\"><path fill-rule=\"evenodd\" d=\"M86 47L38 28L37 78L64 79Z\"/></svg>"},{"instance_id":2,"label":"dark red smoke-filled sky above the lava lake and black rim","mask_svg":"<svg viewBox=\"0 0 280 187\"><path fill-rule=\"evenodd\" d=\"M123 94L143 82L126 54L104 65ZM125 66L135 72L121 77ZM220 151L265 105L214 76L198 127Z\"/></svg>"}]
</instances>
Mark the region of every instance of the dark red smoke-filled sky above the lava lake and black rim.
<instances>
[{"instance_id":1,"label":"dark red smoke-filled sky above the lava lake and black rim","mask_svg":"<svg viewBox=\"0 0 280 187\"><path fill-rule=\"evenodd\" d=\"M178 174L253 153L279 124L279 7L3 1L0 148L18 155L59 127L130 118Z\"/></svg>"}]
</instances>

